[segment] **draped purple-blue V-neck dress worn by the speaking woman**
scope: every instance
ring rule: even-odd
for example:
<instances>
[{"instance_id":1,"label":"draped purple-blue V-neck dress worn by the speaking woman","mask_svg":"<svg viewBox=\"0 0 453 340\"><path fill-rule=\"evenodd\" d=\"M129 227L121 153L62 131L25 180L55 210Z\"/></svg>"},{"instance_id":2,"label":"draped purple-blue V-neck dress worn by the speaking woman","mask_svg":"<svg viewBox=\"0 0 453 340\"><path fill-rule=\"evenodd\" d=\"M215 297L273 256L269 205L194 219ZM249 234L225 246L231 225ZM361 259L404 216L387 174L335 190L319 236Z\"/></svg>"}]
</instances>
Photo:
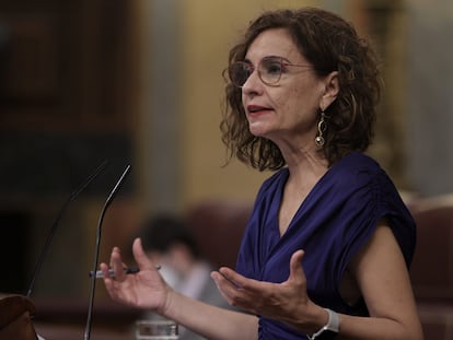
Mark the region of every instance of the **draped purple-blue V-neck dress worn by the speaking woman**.
<instances>
[{"instance_id":1,"label":"draped purple-blue V-neck dress worn by the speaking woman","mask_svg":"<svg viewBox=\"0 0 453 340\"><path fill-rule=\"evenodd\" d=\"M371 238L382 218L387 220L410 265L415 222L394 184L375 161L352 152L318 180L280 236L278 212L288 177L288 168L282 168L259 189L240 248L237 271L255 280L282 282L289 275L291 255L303 249L310 298L338 313L368 316L363 300L348 305L338 288L348 263ZM306 337L260 317L259 339Z\"/></svg>"}]
</instances>

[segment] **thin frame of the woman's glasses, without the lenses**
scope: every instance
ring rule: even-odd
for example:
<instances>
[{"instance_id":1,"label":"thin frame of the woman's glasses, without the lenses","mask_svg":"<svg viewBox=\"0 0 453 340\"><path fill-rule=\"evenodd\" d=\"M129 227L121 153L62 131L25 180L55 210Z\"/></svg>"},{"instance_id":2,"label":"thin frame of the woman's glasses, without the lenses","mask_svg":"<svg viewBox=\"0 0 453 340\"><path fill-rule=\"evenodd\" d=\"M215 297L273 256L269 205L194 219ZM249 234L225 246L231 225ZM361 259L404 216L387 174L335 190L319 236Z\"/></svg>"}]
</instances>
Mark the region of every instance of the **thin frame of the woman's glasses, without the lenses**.
<instances>
[{"instance_id":1,"label":"thin frame of the woman's glasses, without the lenses","mask_svg":"<svg viewBox=\"0 0 453 340\"><path fill-rule=\"evenodd\" d=\"M263 65L266 61L276 61L277 63L280 65L280 74L278 75L278 78L276 79L276 81L269 82L266 81L265 79L263 79ZM247 70L249 73L248 75L245 78L244 82L242 85L240 85L237 82L234 81L235 77L232 77L233 74L233 68L241 66L244 70ZM247 82L247 80L251 78L251 75L253 74L253 72L255 72L255 70L258 72L258 78L259 80L268 85L268 86L276 86L278 85L278 83L281 80L281 75L283 73L283 69L284 67L298 67L298 68L306 68L307 70L314 70L315 68L312 65L300 65L300 63L292 63L289 62L288 60L286 60L283 57L264 57L262 60L259 60L258 62L258 67L253 66L251 62L248 61L235 61L233 63L230 65L228 72L229 72L229 77L230 77L230 81L231 83L236 86L242 89L244 86L244 84Z\"/></svg>"}]
</instances>

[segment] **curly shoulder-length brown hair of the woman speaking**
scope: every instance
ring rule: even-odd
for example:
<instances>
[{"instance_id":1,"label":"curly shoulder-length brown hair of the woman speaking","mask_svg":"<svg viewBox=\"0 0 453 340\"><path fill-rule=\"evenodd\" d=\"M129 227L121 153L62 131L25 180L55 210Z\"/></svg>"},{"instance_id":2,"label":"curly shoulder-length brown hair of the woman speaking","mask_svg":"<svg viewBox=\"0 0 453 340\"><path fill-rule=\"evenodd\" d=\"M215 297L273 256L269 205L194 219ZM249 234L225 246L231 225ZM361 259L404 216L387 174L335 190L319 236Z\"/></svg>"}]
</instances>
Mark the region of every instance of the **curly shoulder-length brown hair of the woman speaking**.
<instances>
[{"instance_id":1,"label":"curly shoulder-length brown hair of the woman speaking","mask_svg":"<svg viewBox=\"0 0 453 340\"><path fill-rule=\"evenodd\" d=\"M325 110L327 130L320 150L332 166L351 151L365 151L373 138L376 105L381 94L378 62L370 44L358 36L351 24L330 12L304 8L263 13L253 21L242 40L229 55L229 65L244 60L248 47L264 31L286 28L301 55L313 65L317 75L338 71L339 93ZM286 165L278 146L249 132L242 105L242 90L223 71L225 107L220 129L229 150L228 162L235 155L259 171L276 171Z\"/></svg>"}]
</instances>

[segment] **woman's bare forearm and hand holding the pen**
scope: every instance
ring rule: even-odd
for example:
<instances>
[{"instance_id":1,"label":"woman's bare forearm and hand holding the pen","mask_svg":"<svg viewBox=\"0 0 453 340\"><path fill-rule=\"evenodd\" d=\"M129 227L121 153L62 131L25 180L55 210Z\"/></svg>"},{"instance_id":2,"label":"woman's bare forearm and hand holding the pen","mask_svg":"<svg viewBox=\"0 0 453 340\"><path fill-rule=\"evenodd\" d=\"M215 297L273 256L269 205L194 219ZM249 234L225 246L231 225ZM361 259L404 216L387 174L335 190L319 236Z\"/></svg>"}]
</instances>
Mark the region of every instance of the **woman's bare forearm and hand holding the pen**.
<instances>
[{"instance_id":1,"label":"woman's bare forearm and hand holding the pen","mask_svg":"<svg viewBox=\"0 0 453 340\"><path fill-rule=\"evenodd\" d=\"M101 263L104 283L113 300L154 310L208 339L257 339L256 316L214 307L177 293L147 257L140 239L133 242L132 253L140 268L136 274L124 272L118 248L111 256L115 278L108 274L108 266Z\"/></svg>"}]
</instances>

